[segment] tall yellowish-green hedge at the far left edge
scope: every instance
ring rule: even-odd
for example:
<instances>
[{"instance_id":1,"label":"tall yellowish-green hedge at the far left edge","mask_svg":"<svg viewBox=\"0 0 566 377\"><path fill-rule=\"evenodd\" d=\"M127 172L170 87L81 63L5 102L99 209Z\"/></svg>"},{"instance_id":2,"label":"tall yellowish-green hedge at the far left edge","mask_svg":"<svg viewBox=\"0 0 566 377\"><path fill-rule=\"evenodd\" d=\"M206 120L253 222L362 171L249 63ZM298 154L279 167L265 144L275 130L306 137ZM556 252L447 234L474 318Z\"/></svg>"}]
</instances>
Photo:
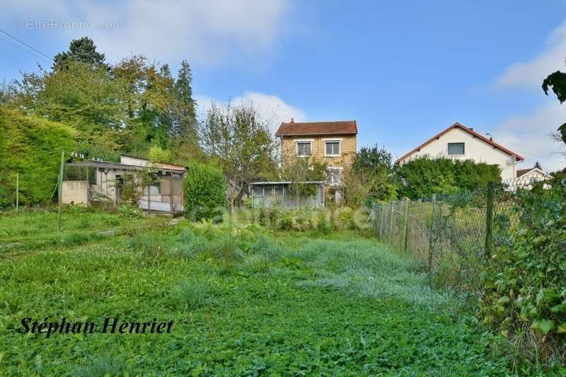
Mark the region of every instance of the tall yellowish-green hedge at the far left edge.
<instances>
[{"instance_id":1,"label":"tall yellowish-green hedge at the far left edge","mask_svg":"<svg viewBox=\"0 0 566 377\"><path fill-rule=\"evenodd\" d=\"M57 184L61 152L73 151L75 134L67 125L0 107L0 208L15 202L16 173L21 204L47 202Z\"/></svg>"}]
</instances>

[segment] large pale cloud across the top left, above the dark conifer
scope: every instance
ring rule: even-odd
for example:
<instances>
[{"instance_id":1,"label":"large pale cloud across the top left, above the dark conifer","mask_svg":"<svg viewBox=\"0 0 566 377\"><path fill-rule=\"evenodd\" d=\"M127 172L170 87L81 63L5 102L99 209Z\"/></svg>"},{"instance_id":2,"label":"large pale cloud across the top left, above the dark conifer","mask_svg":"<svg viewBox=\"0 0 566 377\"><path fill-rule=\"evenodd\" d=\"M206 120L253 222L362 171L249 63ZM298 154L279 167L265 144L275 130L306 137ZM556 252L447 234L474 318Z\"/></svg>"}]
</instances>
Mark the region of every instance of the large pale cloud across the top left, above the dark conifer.
<instances>
[{"instance_id":1,"label":"large pale cloud across the top left, above the dark conifer","mask_svg":"<svg viewBox=\"0 0 566 377\"><path fill-rule=\"evenodd\" d=\"M48 21L121 21L115 30L40 30L65 42L81 35L95 40L111 62L129 54L163 61L220 64L269 55L291 8L291 0L22 0L3 5L13 18Z\"/></svg>"}]
</instances>

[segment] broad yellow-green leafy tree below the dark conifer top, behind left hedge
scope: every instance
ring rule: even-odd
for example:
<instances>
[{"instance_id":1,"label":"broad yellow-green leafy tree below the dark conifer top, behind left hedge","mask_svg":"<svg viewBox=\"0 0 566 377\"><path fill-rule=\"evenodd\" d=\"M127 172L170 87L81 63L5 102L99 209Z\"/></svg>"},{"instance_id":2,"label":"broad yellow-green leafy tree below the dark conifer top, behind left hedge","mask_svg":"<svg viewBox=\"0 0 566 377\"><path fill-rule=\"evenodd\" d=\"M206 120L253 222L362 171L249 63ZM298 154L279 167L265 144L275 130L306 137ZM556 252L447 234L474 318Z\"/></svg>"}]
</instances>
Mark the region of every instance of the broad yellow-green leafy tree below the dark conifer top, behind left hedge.
<instances>
[{"instance_id":1,"label":"broad yellow-green leafy tree below the dark conifer top, behind left hedge","mask_svg":"<svg viewBox=\"0 0 566 377\"><path fill-rule=\"evenodd\" d=\"M62 71L24 74L11 90L18 107L77 129L76 151L88 157L117 158L126 92L106 69L69 61Z\"/></svg>"}]
</instances>

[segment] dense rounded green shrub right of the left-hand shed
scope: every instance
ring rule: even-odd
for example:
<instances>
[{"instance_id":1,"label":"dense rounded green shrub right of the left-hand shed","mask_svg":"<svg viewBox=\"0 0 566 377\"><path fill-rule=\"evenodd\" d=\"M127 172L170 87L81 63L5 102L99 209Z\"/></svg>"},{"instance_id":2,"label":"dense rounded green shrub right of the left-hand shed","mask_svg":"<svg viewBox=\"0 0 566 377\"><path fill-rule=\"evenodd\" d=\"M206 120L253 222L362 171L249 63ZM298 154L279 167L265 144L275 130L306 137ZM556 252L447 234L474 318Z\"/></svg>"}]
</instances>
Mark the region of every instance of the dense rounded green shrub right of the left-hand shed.
<instances>
[{"instance_id":1,"label":"dense rounded green shrub right of the left-hand shed","mask_svg":"<svg viewBox=\"0 0 566 377\"><path fill-rule=\"evenodd\" d=\"M189 166L184 182L185 216L192 221L218 219L226 206L226 179L221 170L202 163Z\"/></svg>"}]
</instances>

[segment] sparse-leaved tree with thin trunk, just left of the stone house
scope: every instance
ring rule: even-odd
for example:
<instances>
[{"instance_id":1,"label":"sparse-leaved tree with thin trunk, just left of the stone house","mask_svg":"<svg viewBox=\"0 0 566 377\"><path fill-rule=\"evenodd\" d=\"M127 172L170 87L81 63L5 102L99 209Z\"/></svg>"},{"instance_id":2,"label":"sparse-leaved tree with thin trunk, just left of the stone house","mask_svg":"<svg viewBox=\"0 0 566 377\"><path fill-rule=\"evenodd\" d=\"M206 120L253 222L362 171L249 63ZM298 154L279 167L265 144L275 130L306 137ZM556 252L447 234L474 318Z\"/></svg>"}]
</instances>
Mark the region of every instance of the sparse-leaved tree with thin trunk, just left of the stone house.
<instances>
[{"instance_id":1,"label":"sparse-leaved tree with thin trunk, just left of the stone house","mask_svg":"<svg viewBox=\"0 0 566 377\"><path fill-rule=\"evenodd\" d=\"M212 104L202 125L203 149L218 161L229 181L229 204L233 214L244 187L258 177L272 158L274 143L267 124L251 105Z\"/></svg>"}]
</instances>

